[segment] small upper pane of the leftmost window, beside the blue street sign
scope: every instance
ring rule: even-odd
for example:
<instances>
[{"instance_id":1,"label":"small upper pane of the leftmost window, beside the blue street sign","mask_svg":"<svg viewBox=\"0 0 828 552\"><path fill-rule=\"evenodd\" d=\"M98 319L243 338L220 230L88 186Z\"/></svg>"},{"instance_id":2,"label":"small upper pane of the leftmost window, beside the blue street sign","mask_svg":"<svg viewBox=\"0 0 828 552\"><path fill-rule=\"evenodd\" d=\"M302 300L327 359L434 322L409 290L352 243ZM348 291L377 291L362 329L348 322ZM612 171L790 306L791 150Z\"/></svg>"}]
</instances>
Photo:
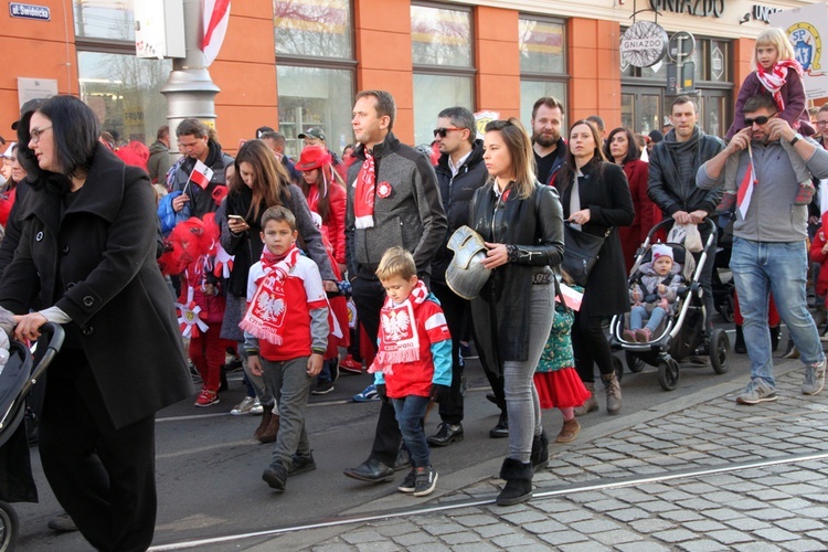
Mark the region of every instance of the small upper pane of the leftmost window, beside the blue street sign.
<instances>
[{"instance_id":1,"label":"small upper pane of the leftmost window, beside the blue street sign","mask_svg":"<svg viewBox=\"0 0 828 552\"><path fill-rule=\"evenodd\" d=\"M73 0L75 35L135 42L134 0Z\"/></svg>"}]
</instances>

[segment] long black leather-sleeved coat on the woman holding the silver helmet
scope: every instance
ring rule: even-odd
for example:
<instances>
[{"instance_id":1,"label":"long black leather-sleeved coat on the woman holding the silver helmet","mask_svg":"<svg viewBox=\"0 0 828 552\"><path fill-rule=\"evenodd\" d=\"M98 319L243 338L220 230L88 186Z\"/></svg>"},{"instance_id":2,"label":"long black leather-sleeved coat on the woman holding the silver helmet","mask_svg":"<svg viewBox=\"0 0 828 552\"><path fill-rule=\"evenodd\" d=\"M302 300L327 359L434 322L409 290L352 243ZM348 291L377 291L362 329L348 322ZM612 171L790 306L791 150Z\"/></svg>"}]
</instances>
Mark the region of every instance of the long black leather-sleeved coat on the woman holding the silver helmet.
<instances>
[{"instance_id":1,"label":"long black leather-sleeved coat on the woman holding the silver helmet","mask_svg":"<svg viewBox=\"0 0 828 552\"><path fill-rule=\"evenodd\" d=\"M507 360L529 357L532 278L549 273L563 259L563 217L554 188L535 182L532 195L497 197L493 183L475 192L469 226L486 242L516 245L514 257L495 268L480 294L471 299L476 344L492 372L502 373ZM492 227L493 226L493 227Z\"/></svg>"}]
</instances>

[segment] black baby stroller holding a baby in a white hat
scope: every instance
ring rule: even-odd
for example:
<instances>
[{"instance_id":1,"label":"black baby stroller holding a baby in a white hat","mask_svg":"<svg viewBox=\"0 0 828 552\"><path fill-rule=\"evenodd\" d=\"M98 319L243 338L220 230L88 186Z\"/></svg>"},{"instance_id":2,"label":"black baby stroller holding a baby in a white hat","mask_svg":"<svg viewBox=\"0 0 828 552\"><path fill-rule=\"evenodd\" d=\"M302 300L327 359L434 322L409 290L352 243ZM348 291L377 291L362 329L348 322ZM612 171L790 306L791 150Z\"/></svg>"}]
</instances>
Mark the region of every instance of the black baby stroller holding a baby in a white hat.
<instances>
[{"instance_id":1,"label":"black baby stroller holding a baby in a white hat","mask_svg":"<svg viewBox=\"0 0 828 552\"><path fill-rule=\"evenodd\" d=\"M639 277L638 268L651 259L651 241L656 233L671 225L671 220L656 224L647 234L641 247L636 253L636 262L630 270L628 284L633 285ZM713 222L704 224L713 226ZM681 264L686 279L676 299L671 312L665 317L647 342L635 342L624 339L624 329L628 327L629 315L614 316L609 323L609 347L624 350L626 363L630 372L640 372L645 364L658 368L658 383L665 391L672 391L679 383L679 361L690 355L710 355L710 363L715 373L723 374L730 368L730 339L723 329L716 328L708 336L704 331L707 319L711 314L705 312L701 300L702 289L699 284L701 269L708 254L715 248L715 229L703 244L703 251L696 265L693 256L682 244L668 243L673 251L676 263ZM624 367L616 363L616 374L620 379Z\"/></svg>"}]
</instances>

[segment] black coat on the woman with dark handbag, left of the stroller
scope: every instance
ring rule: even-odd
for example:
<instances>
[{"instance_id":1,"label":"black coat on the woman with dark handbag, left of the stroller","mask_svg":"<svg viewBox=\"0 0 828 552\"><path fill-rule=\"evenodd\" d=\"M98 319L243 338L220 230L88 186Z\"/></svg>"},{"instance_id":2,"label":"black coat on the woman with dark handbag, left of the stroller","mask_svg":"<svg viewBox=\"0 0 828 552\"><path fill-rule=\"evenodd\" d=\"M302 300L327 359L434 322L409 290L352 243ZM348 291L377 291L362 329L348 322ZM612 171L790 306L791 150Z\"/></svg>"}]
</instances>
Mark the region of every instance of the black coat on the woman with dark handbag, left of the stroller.
<instances>
[{"instance_id":1,"label":"black coat on the woman with dark handbag, left of the stroller","mask_svg":"<svg viewBox=\"0 0 828 552\"><path fill-rule=\"evenodd\" d=\"M613 229L604 240L598 261L584 286L581 312L591 317L628 312L627 276L618 238L618 226L629 226L635 219L627 177L620 167L604 161L587 163L581 171L583 177L578 178L577 183L581 209L590 210L590 222L582 230L587 234L603 236L607 229ZM563 217L569 219L572 182L560 180L556 179L555 187L561 192Z\"/></svg>"}]
</instances>

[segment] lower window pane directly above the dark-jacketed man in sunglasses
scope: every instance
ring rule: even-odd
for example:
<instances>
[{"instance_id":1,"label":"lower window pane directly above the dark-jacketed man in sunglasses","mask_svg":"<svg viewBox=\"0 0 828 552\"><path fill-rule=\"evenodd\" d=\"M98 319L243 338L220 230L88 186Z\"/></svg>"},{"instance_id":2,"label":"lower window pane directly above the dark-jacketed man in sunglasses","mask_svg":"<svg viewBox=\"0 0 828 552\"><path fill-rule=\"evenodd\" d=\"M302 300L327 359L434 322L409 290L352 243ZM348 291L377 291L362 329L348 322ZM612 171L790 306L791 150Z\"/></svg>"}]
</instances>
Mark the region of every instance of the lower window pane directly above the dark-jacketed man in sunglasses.
<instances>
[{"instance_id":1,"label":"lower window pane directly above the dark-jacketed man in sunglasses","mask_svg":"<svg viewBox=\"0 0 828 552\"><path fill-rule=\"evenodd\" d=\"M434 125L446 107L473 109L471 81L470 76L414 75L414 144L434 140Z\"/></svg>"}]
</instances>

